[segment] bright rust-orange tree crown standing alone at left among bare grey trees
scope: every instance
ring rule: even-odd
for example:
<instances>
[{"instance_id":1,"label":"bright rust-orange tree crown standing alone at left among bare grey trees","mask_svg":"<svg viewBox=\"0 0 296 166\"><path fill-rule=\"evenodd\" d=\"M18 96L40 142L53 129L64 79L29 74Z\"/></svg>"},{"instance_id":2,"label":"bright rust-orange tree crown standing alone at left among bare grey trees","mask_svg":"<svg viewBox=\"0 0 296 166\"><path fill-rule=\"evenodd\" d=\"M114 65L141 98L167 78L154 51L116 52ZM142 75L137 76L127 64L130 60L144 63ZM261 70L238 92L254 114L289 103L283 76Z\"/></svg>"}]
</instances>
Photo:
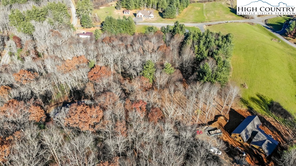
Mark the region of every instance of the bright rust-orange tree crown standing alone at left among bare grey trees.
<instances>
[{"instance_id":1,"label":"bright rust-orange tree crown standing alone at left among bare grey trees","mask_svg":"<svg viewBox=\"0 0 296 166\"><path fill-rule=\"evenodd\" d=\"M15 78L15 81L27 84L37 79L39 74L28 70L20 70L18 73L13 74L13 77Z\"/></svg>"}]
</instances>

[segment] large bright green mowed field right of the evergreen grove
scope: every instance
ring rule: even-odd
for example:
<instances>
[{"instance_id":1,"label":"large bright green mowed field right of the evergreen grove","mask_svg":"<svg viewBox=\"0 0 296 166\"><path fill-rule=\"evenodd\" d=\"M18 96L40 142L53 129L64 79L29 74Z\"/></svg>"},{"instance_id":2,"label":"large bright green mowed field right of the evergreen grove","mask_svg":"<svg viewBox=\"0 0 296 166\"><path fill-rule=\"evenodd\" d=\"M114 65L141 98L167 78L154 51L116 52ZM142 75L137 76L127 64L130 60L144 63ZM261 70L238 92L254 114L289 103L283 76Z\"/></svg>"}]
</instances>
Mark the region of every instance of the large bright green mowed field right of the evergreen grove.
<instances>
[{"instance_id":1,"label":"large bright green mowed field right of the evergreen grove","mask_svg":"<svg viewBox=\"0 0 296 166\"><path fill-rule=\"evenodd\" d=\"M226 23L207 27L215 32L234 34L234 54L231 81L242 90L244 100L264 113L250 99L257 94L279 102L286 110L296 113L296 49L278 39L261 25ZM279 40L279 39L278 39Z\"/></svg>"}]
</instances>

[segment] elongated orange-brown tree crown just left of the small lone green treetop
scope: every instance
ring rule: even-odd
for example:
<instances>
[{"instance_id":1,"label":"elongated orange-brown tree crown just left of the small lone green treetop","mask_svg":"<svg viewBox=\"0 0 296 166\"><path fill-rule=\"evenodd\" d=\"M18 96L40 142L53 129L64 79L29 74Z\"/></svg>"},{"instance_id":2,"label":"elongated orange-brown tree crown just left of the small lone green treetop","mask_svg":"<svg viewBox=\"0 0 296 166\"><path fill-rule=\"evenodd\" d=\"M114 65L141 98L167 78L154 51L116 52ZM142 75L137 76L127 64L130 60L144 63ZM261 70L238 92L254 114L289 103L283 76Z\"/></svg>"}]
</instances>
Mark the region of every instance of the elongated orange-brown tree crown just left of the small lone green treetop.
<instances>
[{"instance_id":1,"label":"elongated orange-brown tree crown just left of the small lone green treetop","mask_svg":"<svg viewBox=\"0 0 296 166\"><path fill-rule=\"evenodd\" d=\"M72 60L66 60L61 66L57 66L57 69L62 73L68 73L76 70L79 66L86 65L89 61L85 56L73 57Z\"/></svg>"}]
</instances>

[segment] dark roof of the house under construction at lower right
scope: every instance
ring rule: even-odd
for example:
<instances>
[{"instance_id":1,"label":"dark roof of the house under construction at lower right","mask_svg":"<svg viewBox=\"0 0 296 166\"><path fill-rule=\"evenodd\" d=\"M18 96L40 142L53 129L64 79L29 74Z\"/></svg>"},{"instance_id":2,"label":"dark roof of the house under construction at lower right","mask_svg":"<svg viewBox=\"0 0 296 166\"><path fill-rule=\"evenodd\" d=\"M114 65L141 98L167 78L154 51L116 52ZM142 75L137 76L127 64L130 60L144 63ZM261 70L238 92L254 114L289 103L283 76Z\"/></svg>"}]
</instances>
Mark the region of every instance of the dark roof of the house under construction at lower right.
<instances>
[{"instance_id":1,"label":"dark roof of the house under construction at lower right","mask_svg":"<svg viewBox=\"0 0 296 166\"><path fill-rule=\"evenodd\" d=\"M251 140L250 144L261 147L263 152L269 156L279 142L259 128L260 125L261 122L257 115L248 116L237 126L232 134L240 134L244 142L247 142L250 137L253 136L254 138Z\"/></svg>"}]
</instances>

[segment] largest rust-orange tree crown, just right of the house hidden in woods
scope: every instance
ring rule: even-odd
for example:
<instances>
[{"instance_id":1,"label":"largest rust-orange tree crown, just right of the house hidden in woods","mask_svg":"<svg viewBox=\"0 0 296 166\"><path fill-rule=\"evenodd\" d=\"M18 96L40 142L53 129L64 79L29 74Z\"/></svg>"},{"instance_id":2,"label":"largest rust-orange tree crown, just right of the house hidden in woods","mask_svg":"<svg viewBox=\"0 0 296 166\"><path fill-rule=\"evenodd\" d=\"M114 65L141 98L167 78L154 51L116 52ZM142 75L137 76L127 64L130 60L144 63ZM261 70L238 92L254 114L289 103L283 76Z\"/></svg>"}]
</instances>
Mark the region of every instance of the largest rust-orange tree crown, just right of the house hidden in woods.
<instances>
[{"instance_id":1,"label":"largest rust-orange tree crown, just right of the house hidden in woods","mask_svg":"<svg viewBox=\"0 0 296 166\"><path fill-rule=\"evenodd\" d=\"M103 111L99 107L90 107L84 103L72 104L65 118L68 126L78 127L81 131L95 131L96 123L103 117Z\"/></svg>"}]
</instances>

